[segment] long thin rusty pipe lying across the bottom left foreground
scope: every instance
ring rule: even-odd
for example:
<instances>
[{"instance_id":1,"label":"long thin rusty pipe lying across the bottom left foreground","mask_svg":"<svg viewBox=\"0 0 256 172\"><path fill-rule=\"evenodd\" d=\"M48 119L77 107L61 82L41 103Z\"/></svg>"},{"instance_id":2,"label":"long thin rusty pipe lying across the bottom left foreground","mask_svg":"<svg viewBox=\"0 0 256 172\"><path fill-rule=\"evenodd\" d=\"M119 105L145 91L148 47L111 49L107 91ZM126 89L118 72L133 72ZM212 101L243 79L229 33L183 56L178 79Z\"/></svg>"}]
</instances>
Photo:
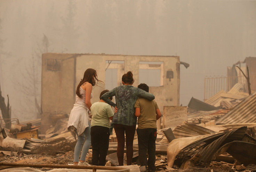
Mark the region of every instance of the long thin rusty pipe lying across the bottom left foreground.
<instances>
[{"instance_id":1,"label":"long thin rusty pipe lying across the bottom left foreground","mask_svg":"<svg viewBox=\"0 0 256 172\"><path fill-rule=\"evenodd\" d=\"M0 162L0 165L4 166L26 166L26 167L44 167L44 168L66 168L66 169L93 169L96 170L114 170L115 172L129 172L129 168L123 168L120 166L96 166L96 165L62 165L62 164L22 164L22 163L5 163Z\"/></svg>"}]
</instances>

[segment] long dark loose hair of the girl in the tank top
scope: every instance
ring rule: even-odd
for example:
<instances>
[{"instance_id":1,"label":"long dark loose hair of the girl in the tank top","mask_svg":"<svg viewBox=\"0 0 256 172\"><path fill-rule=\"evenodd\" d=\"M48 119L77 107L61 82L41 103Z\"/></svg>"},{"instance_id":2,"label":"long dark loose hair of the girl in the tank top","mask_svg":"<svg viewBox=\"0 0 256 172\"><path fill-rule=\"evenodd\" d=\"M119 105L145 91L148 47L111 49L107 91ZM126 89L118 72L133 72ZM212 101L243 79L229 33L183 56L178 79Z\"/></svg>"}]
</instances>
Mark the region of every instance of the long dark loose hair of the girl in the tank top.
<instances>
[{"instance_id":1,"label":"long dark loose hair of the girl in the tank top","mask_svg":"<svg viewBox=\"0 0 256 172\"><path fill-rule=\"evenodd\" d=\"M77 96L82 98L81 94L80 94L80 91L79 91L79 88L81 87L81 85L85 82L89 82L91 85L95 85L96 84L96 81L97 82L102 82L101 80L98 80L98 77L97 77L97 72L96 70L94 69L87 69L85 71L85 73L83 74L83 79L81 79L81 81L79 82L78 86L77 86Z\"/></svg>"}]
</instances>

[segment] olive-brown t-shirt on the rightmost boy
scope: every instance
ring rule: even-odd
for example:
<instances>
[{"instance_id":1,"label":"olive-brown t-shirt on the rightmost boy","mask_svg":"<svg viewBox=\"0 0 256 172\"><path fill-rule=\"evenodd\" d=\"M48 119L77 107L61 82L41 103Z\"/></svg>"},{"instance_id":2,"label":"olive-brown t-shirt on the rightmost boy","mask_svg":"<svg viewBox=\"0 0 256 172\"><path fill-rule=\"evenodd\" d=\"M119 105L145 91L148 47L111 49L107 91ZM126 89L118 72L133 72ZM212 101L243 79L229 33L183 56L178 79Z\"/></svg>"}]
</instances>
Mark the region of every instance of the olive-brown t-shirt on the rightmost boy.
<instances>
[{"instance_id":1,"label":"olive-brown t-shirt on the rightmost boy","mask_svg":"<svg viewBox=\"0 0 256 172\"><path fill-rule=\"evenodd\" d=\"M135 108L140 108L141 115L138 117L138 129L157 128L157 115L155 110L159 109L157 102L138 98Z\"/></svg>"}]
</instances>

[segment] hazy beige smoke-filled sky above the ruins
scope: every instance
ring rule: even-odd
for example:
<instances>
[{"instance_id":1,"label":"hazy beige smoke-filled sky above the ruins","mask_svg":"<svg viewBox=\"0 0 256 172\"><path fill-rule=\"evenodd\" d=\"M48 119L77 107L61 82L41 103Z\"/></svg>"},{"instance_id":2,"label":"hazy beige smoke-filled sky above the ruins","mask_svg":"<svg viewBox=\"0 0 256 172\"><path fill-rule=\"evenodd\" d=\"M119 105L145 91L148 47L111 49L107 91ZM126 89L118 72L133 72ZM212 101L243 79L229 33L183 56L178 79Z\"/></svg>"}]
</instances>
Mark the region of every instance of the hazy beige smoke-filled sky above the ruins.
<instances>
[{"instance_id":1,"label":"hazy beige smoke-filled sky above the ruins","mask_svg":"<svg viewBox=\"0 0 256 172\"><path fill-rule=\"evenodd\" d=\"M0 84L12 117L35 118L41 54L177 55L180 104L204 78L256 57L255 0L0 0ZM21 119L21 116L23 117Z\"/></svg>"}]
</instances>

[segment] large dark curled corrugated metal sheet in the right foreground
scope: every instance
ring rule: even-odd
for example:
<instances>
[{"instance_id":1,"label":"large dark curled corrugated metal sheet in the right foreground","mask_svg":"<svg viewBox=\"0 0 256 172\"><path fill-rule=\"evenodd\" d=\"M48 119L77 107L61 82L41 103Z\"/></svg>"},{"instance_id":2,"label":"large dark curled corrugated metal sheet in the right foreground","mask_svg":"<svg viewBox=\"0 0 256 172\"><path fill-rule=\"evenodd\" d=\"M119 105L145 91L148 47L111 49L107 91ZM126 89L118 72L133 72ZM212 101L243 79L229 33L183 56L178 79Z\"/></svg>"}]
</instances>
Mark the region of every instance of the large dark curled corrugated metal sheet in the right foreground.
<instances>
[{"instance_id":1,"label":"large dark curled corrugated metal sheet in the right foreground","mask_svg":"<svg viewBox=\"0 0 256 172\"><path fill-rule=\"evenodd\" d=\"M251 161L248 161L249 163L253 164L254 161L256 160L255 155L250 155L250 153L247 151L244 151L245 153L238 150L238 146L242 146L244 149L246 149L246 146L250 146L251 150L256 150L256 144L255 143L248 143L248 142L243 142L242 139L247 135L246 134L247 127L241 127L238 129L233 129L228 132L223 132L223 133L216 133L216 134L209 134L209 136L203 137L196 139L196 137L188 137L187 143L190 144L183 144L184 147L182 149L179 149L180 151L178 154L174 154L175 156L178 155L179 157L182 157L182 161L187 161L191 159L191 157L195 155L200 155L200 159L197 161L197 165L199 166L207 166L210 164L210 162L220 154L223 154L224 152L229 153L230 155L234 155L235 159L243 159L244 156L248 156L248 159L253 159ZM197 136L199 137L199 136ZM185 138L182 138L185 139ZM191 139L190 142L189 140ZM175 139L176 140L176 139ZM175 141L174 140L174 141ZM177 139L178 140L178 139ZM181 140L182 141L182 140ZM176 143L176 142L174 142ZM255 147L254 147L255 146ZM169 147L173 147L172 149L169 149ZM168 149L167 149L167 156L169 157L168 154L172 155L173 153L170 152L170 150L175 150L175 144L172 144L172 142L169 144ZM254 153L254 151L252 151ZM242 155L241 155L242 154ZM174 160L169 160L168 159L168 166L172 166ZM243 162L243 160L242 160ZM195 162L194 162L195 163Z\"/></svg>"}]
</instances>

